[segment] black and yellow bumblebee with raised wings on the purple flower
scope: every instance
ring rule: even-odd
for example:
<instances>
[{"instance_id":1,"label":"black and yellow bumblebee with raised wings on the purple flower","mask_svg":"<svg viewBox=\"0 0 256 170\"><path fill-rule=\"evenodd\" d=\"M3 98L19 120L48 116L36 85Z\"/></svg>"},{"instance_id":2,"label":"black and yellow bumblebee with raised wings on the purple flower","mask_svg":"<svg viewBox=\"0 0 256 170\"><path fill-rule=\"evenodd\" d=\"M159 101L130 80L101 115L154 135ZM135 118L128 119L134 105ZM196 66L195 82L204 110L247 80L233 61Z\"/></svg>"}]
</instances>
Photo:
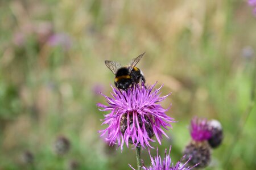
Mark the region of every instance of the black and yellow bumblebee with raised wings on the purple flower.
<instances>
[{"instance_id":1,"label":"black and yellow bumblebee with raised wings on the purple flower","mask_svg":"<svg viewBox=\"0 0 256 170\"><path fill-rule=\"evenodd\" d=\"M121 66L118 62L106 60L105 64L115 74L115 87L121 90L127 90L133 84L146 82L144 75L138 67L135 67L141 60L141 54L130 61L128 66Z\"/></svg>"}]
</instances>

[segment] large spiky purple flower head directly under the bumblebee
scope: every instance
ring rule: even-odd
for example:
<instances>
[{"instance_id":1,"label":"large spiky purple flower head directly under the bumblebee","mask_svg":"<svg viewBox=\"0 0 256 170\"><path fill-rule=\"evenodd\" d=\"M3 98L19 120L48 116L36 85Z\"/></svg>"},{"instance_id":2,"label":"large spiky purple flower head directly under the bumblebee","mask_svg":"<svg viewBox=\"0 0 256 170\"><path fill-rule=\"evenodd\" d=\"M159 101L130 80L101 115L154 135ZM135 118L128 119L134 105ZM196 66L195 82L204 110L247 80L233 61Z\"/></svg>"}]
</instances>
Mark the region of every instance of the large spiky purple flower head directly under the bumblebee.
<instances>
[{"instance_id":1,"label":"large spiky purple flower head directly under the bumblebee","mask_svg":"<svg viewBox=\"0 0 256 170\"><path fill-rule=\"evenodd\" d=\"M105 141L109 145L117 144L123 149L123 144L129 143L135 147L150 146L149 141L155 142L151 138L155 135L161 144L162 135L167 134L161 129L172 128L170 122L175 122L174 118L167 116L159 102L166 99L167 96L160 97L160 89L153 90L152 86L139 86L139 84L129 88L127 91L120 91L112 87L112 97L104 96L109 105L97 104L100 111L111 111L105 115L103 124L107 124L108 128L100 130L101 137L105 136ZM167 137L168 138L168 137ZM152 147L151 147L152 148Z\"/></svg>"}]
</instances>

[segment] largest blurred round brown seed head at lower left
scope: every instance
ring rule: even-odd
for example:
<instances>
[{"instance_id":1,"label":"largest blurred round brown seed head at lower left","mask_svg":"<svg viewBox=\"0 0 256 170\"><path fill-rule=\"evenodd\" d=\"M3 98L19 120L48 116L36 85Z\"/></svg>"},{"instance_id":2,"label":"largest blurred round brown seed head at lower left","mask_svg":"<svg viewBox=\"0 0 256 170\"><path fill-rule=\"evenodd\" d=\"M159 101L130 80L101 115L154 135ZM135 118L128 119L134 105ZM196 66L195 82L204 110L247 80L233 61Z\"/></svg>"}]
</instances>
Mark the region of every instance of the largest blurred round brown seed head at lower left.
<instances>
[{"instance_id":1,"label":"largest blurred round brown seed head at lower left","mask_svg":"<svg viewBox=\"0 0 256 170\"><path fill-rule=\"evenodd\" d=\"M70 148L70 142L66 137L60 136L56 139L53 150L56 155L64 155L67 154Z\"/></svg>"}]
</instances>

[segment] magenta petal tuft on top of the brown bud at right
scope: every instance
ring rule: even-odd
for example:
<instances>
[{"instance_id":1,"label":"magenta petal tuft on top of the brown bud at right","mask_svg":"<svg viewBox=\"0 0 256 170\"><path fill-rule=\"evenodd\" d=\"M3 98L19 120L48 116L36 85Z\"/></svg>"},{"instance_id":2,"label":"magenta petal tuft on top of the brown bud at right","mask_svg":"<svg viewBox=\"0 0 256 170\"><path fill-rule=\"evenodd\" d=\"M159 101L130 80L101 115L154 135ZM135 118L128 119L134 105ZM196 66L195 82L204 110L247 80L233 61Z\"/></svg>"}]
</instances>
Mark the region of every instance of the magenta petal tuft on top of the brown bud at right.
<instances>
[{"instance_id":1,"label":"magenta petal tuft on top of the brown bud at right","mask_svg":"<svg viewBox=\"0 0 256 170\"><path fill-rule=\"evenodd\" d=\"M195 141L205 141L212 137L207 119L194 117L191 120L190 134Z\"/></svg>"}]
</instances>

